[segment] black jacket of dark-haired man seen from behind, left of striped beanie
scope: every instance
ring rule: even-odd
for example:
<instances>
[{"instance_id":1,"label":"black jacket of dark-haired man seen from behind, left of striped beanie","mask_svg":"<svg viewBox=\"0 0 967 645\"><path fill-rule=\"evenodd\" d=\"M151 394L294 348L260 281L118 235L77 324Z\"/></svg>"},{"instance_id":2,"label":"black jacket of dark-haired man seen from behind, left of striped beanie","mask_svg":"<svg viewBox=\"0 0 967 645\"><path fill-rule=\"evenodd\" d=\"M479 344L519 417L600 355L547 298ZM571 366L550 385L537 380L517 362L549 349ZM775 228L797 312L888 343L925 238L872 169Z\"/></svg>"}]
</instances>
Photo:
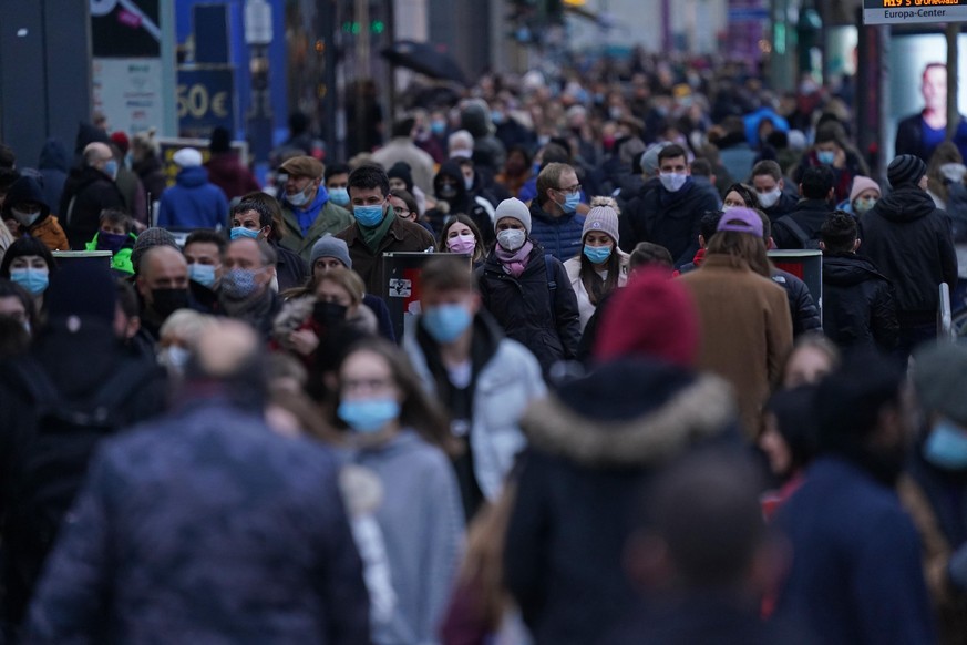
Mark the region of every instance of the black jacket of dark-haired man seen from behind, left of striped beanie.
<instances>
[{"instance_id":1,"label":"black jacket of dark-haired man seen from behind, left of striped beanie","mask_svg":"<svg viewBox=\"0 0 967 645\"><path fill-rule=\"evenodd\" d=\"M868 259L852 253L823 256L823 328L844 350L896 347L893 287Z\"/></svg>"}]
</instances>

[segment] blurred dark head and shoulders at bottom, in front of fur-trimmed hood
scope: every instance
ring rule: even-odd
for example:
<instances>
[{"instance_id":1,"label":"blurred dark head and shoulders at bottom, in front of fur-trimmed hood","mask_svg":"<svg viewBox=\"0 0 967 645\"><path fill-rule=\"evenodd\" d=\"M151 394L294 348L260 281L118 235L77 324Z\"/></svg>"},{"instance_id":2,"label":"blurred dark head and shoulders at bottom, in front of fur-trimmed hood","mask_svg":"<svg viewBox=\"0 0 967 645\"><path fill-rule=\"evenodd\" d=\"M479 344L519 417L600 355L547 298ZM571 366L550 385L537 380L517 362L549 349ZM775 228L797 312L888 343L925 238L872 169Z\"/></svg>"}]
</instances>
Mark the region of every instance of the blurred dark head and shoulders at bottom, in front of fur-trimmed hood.
<instances>
[{"instance_id":1,"label":"blurred dark head and shoulders at bottom, in front of fur-trimmed hood","mask_svg":"<svg viewBox=\"0 0 967 645\"><path fill-rule=\"evenodd\" d=\"M759 615L779 551L759 513L750 465L703 451L656 477L627 549L629 573L645 587L644 606L604 643L805 642Z\"/></svg>"}]
</instances>

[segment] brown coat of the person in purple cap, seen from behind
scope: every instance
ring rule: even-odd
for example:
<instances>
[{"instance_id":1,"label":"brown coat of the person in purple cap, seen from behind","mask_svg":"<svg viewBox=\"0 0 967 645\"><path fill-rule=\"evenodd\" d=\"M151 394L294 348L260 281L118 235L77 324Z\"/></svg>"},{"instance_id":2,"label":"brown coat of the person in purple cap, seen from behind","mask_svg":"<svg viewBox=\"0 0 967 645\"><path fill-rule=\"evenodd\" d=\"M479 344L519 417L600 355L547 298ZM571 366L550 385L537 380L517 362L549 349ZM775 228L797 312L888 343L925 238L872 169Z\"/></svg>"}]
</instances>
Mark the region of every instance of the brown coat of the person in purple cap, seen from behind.
<instances>
[{"instance_id":1,"label":"brown coat of the person in purple cap, seen from behind","mask_svg":"<svg viewBox=\"0 0 967 645\"><path fill-rule=\"evenodd\" d=\"M762 406L792 349L785 290L742 263L707 255L678 278L695 296L702 330L698 368L732 383L745 436L759 433Z\"/></svg>"}]
</instances>

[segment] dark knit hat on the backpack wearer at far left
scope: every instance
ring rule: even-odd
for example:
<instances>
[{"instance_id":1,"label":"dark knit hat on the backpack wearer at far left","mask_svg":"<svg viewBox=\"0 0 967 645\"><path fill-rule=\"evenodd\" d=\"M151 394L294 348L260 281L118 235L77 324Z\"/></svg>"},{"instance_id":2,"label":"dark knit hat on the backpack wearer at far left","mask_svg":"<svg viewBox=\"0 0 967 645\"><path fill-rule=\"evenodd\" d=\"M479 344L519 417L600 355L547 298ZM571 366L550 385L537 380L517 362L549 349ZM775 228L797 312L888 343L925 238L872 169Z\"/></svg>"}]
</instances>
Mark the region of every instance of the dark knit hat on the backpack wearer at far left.
<instances>
[{"instance_id":1,"label":"dark knit hat on the backpack wearer at far left","mask_svg":"<svg viewBox=\"0 0 967 645\"><path fill-rule=\"evenodd\" d=\"M51 321L95 318L106 324L114 321L117 288L106 264L81 259L51 274L50 288L44 295Z\"/></svg>"}]
</instances>

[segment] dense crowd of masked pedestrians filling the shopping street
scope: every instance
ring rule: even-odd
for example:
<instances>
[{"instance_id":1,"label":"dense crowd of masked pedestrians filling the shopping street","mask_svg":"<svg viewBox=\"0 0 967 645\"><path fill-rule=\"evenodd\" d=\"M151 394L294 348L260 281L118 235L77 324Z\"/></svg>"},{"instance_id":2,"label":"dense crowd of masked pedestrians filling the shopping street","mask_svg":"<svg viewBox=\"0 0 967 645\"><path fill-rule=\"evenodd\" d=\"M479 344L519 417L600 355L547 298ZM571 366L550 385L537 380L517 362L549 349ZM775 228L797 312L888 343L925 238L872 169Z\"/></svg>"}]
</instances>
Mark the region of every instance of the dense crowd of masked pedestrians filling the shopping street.
<instances>
[{"instance_id":1,"label":"dense crowd of masked pedestrians filling the shopping street","mask_svg":"<svg viewBox=\"0 0 967 645\"><path fill-rule=\"evenodd\" d=\"M963 642L955 142L645 58L305 130L0 145L3 642Z\"/></svg>"}]
</instances>

